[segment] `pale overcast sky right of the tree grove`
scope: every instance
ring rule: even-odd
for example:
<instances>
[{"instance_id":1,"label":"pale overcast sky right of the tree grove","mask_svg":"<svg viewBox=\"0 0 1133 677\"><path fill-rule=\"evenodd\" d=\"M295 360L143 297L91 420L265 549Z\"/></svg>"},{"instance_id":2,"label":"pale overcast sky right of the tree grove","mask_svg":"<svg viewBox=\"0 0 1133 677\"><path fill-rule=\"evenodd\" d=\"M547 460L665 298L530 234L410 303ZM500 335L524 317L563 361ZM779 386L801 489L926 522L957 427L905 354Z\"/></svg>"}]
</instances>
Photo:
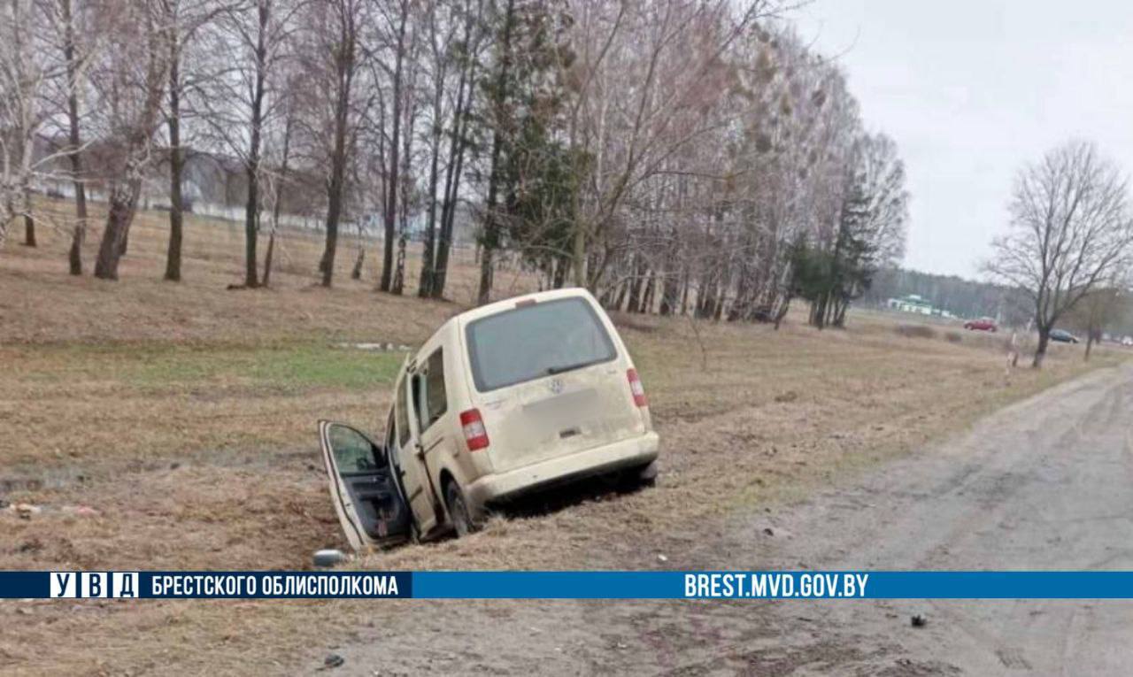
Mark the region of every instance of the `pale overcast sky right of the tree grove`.
<instances>
[{"instance_id":1,"label":"pale overcast sky right of the tree grove","mask_svg":"<svg viewBox=\"0 0 1133 677\"><path fill-rule=\"evenodd\" d=\"M978 276L1015 172L1063 140L1133 166L1133 2L815 0L795 18L897 142L908 267Z\"/></svg>"}]
</instances>

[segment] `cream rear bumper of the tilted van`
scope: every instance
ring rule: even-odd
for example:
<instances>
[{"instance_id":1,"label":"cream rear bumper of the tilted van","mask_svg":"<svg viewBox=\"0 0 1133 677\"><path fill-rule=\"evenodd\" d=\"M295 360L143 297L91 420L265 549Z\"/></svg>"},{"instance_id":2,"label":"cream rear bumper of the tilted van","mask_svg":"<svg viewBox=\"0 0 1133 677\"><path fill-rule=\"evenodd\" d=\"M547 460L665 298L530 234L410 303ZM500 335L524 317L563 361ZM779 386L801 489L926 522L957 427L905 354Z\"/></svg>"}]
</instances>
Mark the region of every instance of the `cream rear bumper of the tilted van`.
<instances>
[{"instance_id":1,"label":"cream rear bumper of the tilted van","mask_svg":"<svg viewBox=\"0 0 1133 677\"><path fill-rule=\"evenodd\" d=\"M466 494L470 502L483 506L550 485L645 465L657 457L657 434L650 431L509 472L488 474L466 487Z\"/></svg>"}]
</instances>

